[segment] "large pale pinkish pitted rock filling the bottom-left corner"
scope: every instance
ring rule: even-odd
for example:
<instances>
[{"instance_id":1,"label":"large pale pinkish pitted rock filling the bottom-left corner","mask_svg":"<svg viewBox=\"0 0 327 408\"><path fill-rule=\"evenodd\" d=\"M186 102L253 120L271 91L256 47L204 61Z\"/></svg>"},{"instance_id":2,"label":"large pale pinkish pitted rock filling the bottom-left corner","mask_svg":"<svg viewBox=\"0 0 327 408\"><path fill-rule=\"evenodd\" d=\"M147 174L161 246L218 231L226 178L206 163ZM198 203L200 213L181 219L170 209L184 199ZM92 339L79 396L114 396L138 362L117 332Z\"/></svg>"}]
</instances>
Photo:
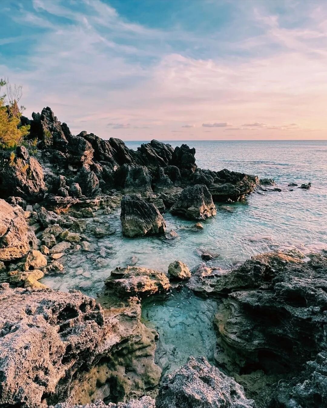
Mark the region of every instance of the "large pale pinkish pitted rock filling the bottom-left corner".
<instances>
[{"instance_id":1,"label":"large pale pinkish pitted rock filling the bottom-left corner","mask_svg":"<svg viewBox=\"0 0 327 408\"><path fill-rule=\"evenodd\" d=\"M2 286L0 315L2 406L39 407L65 399L73 378L81 378L103 353L116 324L105 323L94 299L49 289Z\"/></svg>"}]
</instances>

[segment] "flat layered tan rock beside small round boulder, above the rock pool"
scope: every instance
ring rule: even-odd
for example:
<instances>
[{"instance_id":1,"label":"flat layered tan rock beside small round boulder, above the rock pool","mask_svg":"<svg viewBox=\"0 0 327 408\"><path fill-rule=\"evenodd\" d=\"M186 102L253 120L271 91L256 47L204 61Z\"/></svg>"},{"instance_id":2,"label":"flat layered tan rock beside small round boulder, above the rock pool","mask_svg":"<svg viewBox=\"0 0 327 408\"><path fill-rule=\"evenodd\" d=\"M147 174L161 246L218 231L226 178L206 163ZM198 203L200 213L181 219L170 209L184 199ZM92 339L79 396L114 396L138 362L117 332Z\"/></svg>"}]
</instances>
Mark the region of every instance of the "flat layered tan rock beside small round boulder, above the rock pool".
<instances>
[{"instance_id":1,"label":"flat layered tan rock beside small round boulder, above the rock pool","mask_svg":"<svg viewBox=\"0 0 327 408\"><path fill-rule=\"evenodd\" d=\"M137 266L114 269L105 285L122 296L152 295L170 288L164 273Z\"/></svg>"}]
</instances>

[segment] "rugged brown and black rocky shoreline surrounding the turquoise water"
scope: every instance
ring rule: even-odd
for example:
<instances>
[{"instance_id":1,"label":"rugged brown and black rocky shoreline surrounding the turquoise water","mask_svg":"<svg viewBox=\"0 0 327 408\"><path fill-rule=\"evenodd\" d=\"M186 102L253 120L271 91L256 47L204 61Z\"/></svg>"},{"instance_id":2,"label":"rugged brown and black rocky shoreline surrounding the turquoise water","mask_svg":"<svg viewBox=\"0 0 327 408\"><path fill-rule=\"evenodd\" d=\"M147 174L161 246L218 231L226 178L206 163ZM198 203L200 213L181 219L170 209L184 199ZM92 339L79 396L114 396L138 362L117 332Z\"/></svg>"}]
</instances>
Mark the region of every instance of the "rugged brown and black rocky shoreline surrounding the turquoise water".
<instances>
[{"instance_id":1,"label":"rugged brown and black rocky shoreline surrounding the turquoise water","mask_svg":"<svg viewBox=\"0 0 327 408\"><path fill-rule=\"evenodd\" d=\"M273 180L199 169L186 144L134 151L72 135L48 107L32 118L21 121L36 149L0 151L0 406L327 406L326 253L265 253L226 271L176 260L166 273L130 259L108 273L98 303L40 282L60 279L72 255L106 265L110 246L94 242L116 229L98 215L121 207L125 237L178 239L165 212L198 231L215 203L278 192ZM217 300L216 366L190 356L165 374L160 333L141 322L141 304L181 287Z\"/></svg>"}]
</instances>

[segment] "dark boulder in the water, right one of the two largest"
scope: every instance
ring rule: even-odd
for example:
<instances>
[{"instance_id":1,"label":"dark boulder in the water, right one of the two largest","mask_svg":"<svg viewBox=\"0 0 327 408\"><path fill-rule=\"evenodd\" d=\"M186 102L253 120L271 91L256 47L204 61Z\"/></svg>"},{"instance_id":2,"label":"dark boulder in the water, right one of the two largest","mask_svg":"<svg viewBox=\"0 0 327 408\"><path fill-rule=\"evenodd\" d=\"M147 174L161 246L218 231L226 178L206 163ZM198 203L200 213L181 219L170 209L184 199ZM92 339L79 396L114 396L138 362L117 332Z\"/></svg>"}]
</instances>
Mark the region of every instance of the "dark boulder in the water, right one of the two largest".
<instances>
[{"instance_id":1,"label":"dark boulder in the water, right one of the two largest","mask_svg":"<svg viewBox=\"0 0 327 408\"><path fill-rule=\"evenodd\" d=\"M208 188L196 184L182 191L170 212L193 220L205 220L215 215L217 211Z\"/></svg>"}]
</instances>

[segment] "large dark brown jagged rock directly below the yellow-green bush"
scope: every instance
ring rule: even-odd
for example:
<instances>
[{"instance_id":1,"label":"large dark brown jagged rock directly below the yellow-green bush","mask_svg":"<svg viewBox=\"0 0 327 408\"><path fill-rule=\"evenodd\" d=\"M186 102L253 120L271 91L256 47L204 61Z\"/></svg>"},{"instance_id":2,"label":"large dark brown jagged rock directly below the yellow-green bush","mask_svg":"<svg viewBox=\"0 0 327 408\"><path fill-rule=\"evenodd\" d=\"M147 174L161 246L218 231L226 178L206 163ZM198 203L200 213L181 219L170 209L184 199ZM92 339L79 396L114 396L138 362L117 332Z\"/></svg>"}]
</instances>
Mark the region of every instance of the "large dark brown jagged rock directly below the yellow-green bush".
<instances>
[{"instance_id":1,"label":"large dark brown jagged rock directly below the yellow-green bush","mask_svg":"<svg viewBox=\"0 0 327 408\"><path fill-rule=\"evenodd\" d=\"M23 157L26 157L24 159ZM17 195L29 201L44 197L46 191L40 163L24 146L16 152L0 151L0 196Z\"/></svg>"}]
</instances>

